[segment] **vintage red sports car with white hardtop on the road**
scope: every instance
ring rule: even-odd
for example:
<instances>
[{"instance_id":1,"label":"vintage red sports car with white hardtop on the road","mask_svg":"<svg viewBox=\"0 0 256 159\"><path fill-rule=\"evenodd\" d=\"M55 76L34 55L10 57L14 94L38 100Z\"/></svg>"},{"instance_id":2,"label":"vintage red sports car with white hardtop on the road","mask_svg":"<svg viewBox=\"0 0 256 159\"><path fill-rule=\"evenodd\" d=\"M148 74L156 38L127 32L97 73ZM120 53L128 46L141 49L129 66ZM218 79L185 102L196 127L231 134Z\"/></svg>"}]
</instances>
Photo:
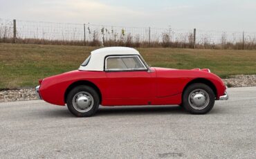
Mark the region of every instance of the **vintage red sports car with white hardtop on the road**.
<instances>
[{"instance_id":1,"label":"vintage red sports car with white hardtop on the road","mask_svg":"<svg viewBox=\"0 0 256 159\"><path fill-rule=\"evenodd\" d=\"M102 106L180 105L208 113L215 100L228 100L226 86L209 69L149 67L134 48L109 47L91 52L76 71L39 80L39 99L89 117Z\"/></svg>"}]
</instances>

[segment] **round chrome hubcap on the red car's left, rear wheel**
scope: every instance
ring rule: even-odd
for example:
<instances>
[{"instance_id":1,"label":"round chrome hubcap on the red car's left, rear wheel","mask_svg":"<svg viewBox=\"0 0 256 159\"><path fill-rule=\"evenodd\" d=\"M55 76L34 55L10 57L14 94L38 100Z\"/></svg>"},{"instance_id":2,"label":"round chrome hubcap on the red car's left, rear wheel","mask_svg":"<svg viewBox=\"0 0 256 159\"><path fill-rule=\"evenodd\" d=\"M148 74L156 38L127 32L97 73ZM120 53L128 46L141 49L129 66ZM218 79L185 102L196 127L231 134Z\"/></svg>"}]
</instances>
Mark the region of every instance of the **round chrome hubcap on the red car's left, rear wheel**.
<instances>
[{"instance_id":1,"label":"round chrome hubcap on the red car's left, rear wheel","mask_svg":"<svg viewBox=\"0 0 256 159\"><path fill-rule=\"evenodd\" d=\"M85 113L93 107L93 96L88 92L76 93L73 97L73 106L75 110Z\"/></svg>"}]
</instances>

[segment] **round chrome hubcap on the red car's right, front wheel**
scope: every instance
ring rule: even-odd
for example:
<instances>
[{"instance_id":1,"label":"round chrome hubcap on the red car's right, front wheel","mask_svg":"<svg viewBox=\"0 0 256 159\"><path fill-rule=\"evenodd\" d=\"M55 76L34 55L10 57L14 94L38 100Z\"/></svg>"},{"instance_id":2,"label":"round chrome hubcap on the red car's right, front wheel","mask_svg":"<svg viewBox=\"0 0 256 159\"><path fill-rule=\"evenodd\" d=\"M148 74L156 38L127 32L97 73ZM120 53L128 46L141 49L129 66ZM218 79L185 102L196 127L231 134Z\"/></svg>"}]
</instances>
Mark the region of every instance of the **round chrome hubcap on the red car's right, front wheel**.
<instances>
[{"instance_id":1,"label":"round chrome hubcap on the red car's right, front wheel","mask_svg":"<svg viewBox=\"0 0 256 159\"><path fill-rule=\"evenodd\" d=\"M193 109L205 109L205 107L209 104L209 95L203 89L196 89L188 96L188 102Z\"/></svg>"}]
</instances>

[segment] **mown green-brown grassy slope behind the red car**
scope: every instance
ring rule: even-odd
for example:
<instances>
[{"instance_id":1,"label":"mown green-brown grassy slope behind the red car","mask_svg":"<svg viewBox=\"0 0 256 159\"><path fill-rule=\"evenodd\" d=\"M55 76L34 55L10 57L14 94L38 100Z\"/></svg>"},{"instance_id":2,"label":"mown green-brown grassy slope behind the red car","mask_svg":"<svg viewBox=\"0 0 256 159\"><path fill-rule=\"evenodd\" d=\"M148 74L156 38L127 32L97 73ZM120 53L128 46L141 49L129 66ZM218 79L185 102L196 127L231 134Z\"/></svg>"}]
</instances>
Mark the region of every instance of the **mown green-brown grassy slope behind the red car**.
<instances>
[{"instance_id":1,"label":"mown green-brown grassy slope behind the red car","mask_svg":"<svg viewBox=\"0 0 256 159\"><path fill-rule=\"evenodd\" d=\"M0 43L0 88L26 88L77 69L95 47ZM256 50L138 48L150 66L210 68L221 77L256 74Z\"/></svg>"}]
</instances>

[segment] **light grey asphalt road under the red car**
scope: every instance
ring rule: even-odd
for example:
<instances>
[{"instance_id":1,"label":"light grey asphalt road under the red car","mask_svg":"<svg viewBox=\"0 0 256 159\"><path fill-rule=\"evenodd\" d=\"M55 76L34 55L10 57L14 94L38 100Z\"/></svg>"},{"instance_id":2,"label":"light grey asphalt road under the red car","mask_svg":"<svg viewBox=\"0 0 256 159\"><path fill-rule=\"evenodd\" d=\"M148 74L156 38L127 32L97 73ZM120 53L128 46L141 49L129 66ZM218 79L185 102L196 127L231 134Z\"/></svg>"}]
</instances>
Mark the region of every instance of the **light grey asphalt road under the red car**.
<instances>
[{"instance_id":1,"label":"light grey asphalt road under the red car","mask_svg":"<svg viewBox=\"0 0 256 159\"><path fill-rule=\"evenodd\" d=\"M0 103L0 158L256 158L256 87L228 93L207 115L137 106L75 118L39 100Z\"/></svg>"}]
</instances>

